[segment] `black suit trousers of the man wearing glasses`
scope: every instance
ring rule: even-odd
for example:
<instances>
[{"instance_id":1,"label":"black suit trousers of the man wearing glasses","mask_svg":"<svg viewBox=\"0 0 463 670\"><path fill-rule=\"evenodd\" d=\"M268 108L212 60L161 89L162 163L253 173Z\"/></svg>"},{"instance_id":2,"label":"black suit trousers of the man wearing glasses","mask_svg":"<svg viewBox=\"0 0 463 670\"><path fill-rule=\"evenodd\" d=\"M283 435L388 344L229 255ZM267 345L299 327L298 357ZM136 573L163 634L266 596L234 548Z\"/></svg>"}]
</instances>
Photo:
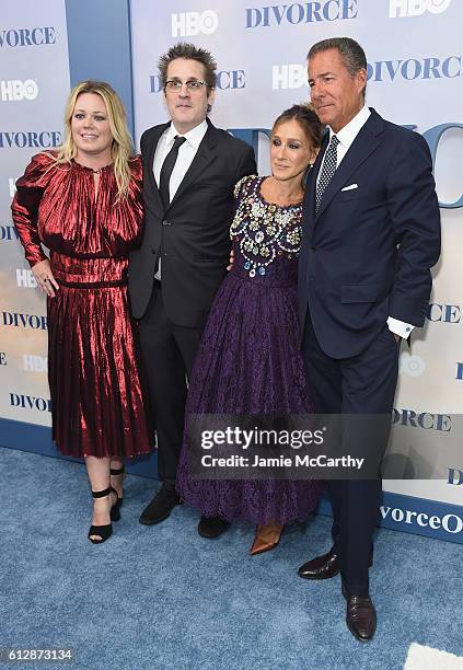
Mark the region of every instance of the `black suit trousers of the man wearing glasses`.
<instances>
[{"instance_id":1,"label":"black suit trousers of the man wearing glasses","mask_svg":"<svg viewBox=\"0 0 463 670\"><path fill-rule=\"evenodd\" d=\"M173 324L164 310L160 281L154 280L148 309L140 320L140 340L150 402L158 432L158 473L175 483L182 449L187 379L202 328Z\"/></svg>"}]
</instances>

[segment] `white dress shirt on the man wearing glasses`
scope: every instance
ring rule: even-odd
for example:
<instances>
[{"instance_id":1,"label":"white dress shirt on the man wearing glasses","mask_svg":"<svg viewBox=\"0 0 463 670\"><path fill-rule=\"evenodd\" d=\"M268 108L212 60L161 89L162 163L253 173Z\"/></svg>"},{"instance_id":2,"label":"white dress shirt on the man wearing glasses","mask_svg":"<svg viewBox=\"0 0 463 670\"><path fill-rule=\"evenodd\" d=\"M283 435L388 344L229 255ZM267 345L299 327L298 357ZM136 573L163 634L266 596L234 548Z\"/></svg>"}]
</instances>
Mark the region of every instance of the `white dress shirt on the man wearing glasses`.
<instances>
[{"instance_id":1,"label":"white dress shirt on the man wearing glasses","mask_svg":"<svg viewBox=\"0 0 463 670\"><path fill-rule=\"evenodd\" d=\"M207 131L207 122L206 119L193 128L193 130L188 130L185 135L178 132L173 123L164 130L164 132L159 138L158 147L154 152L153 160L153 172L155 183L159 187L159 180L161 176L161 168L165 160L165 157L170 152L173 147L174 139L178 135L180 137L184 137L186 142L184 142L178 149L177 160L175 161L174 169L171 174L171 178L169 182L169 199L172 203L178 186L181 185L185 174L188 171L188 168L193 163L193 159L196 155L196 152L201 143L201 140ZM154 275L157 279L161 279L161 258L159 258L158 269Z\"/></svg>"}]
</instances>

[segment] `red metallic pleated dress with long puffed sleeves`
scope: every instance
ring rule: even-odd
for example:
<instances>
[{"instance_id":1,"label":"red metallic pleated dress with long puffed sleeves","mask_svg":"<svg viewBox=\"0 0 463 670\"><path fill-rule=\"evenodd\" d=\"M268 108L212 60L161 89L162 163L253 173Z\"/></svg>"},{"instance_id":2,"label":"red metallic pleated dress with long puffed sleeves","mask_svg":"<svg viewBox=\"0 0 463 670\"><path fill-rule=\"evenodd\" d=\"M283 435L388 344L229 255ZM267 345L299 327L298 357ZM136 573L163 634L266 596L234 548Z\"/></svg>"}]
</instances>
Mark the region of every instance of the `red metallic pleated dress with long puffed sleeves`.
<instances>
[{"instance_id":1,"label":"red metallic pleated dress with long puffed sleeves","mask_svg":"<svg viewBox=\"0 0 463 670\"><path fill-rule=\"evenodd\" d=\"M136 324L127 303L128 254L139 244L141 160L128 197L116 203L113 168L93 171L35 155L18 180L13 220L31 266L50 250L59 284L48 298L53 437L72 457L135 457L152 439L139 377Z\"/></svg>"}]
</instances>

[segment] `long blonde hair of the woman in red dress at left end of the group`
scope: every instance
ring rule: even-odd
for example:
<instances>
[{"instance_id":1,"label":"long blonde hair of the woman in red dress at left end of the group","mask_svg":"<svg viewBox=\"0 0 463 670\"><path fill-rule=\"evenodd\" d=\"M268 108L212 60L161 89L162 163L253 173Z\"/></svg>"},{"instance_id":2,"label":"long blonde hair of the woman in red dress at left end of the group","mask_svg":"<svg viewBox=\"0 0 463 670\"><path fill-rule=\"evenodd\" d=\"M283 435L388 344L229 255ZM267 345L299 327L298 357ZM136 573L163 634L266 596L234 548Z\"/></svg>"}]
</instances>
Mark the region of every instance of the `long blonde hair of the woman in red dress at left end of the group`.
<instances>
[{"instance_id":1,"label":"long blonde hair of the woman in red dress at left end of the group","mask_svg":"<svg viewBox=\"0 0 463 670\"><path fill-rule=\"evenodd\" d=\"M65 141L54 155L55 164L70 163L77 155L76 142L72 139L71 120L77 99L81 93L96 93L106 105L109 129L113 136L111 155L114 176L117 184L117 200L127 196L131 172L129 160L134 158L134 143L127 128L126 111L116 91L104 81L81 81L69 94L65 109Z\"/></svg>"}]
</instances>

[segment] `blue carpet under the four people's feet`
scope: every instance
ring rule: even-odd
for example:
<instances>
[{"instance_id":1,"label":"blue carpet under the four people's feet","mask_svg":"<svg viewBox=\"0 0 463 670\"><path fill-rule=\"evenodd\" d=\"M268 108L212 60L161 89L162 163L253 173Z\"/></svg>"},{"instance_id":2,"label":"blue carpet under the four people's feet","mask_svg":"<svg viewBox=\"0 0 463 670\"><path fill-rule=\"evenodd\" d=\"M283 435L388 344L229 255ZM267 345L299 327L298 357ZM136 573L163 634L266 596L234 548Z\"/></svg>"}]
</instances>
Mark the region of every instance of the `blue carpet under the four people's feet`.
<instances>
[{"instance_id":1,"label":"blue carpet under the four people's feet","mask_svg":"<svg viewBox=\"0 0 463 670\"><path fill-rule=\"evenodd\" d=\"M0 448L0 647L76 650L71 666L9 668L383 670L403 668L412 642L463 655L461 545L378 532L379 628L364 645L345 626L339 578L296 575L329 546L327 517L251 558L253 529L202 540L185 507L140 525L159 484L128 476L123 519L94 546L82 465Z\"/></svg>"}]
</instances>

